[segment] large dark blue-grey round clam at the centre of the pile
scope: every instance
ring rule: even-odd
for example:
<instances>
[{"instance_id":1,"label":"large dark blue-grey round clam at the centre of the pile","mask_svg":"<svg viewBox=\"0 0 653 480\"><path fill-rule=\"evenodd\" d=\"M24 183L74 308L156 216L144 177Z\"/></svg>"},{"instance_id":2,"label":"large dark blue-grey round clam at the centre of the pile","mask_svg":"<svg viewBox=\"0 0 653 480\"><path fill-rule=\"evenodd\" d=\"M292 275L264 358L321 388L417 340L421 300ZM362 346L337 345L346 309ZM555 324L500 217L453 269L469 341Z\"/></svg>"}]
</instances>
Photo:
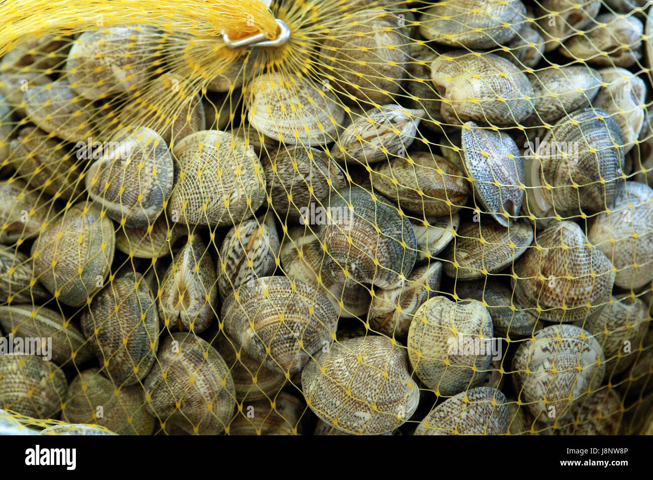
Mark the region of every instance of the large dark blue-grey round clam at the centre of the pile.
<instances>
[{"instance_id":1,"label":"large dark blue-grey round clam at the centre of the pile","mask_svg":"<svg viewBox=\"0 0 653 480\"><path fill-rule=\"evenodd\" d=\"M323 271L336 283L390 289L413 270L415 232L388 200L360 187L345 188L332 195L327 213L330 218L319 225L318 236L328 253Z\"/></svg>"}]
</instances>

